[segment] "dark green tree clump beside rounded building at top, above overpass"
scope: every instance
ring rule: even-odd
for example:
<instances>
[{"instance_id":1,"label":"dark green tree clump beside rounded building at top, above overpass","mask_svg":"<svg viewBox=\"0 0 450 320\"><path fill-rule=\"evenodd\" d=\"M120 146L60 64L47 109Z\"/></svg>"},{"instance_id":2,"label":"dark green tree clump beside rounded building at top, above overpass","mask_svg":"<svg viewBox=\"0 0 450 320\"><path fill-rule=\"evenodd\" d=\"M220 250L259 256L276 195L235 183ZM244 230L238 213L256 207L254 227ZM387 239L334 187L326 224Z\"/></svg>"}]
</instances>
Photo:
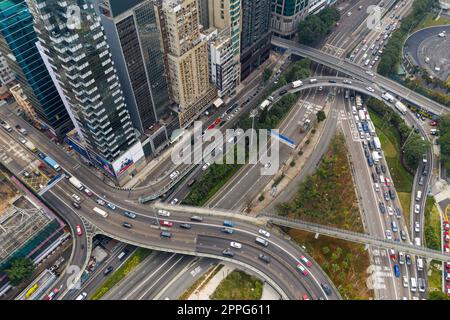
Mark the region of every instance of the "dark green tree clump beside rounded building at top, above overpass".
<instances>
[{"instance_id":1,"label":"dark green tree clump beside rounded building at top, above overpass","mask_svg":"<svg viewBox=\"0 0 450 320\"><path fill-rule=\"evenodd\" d=\"M298 24L299 42L311 46L320 43L340 18L341 14L334 7L325 8L318 14L306 17Z\"/></svg>"}]
</instances>

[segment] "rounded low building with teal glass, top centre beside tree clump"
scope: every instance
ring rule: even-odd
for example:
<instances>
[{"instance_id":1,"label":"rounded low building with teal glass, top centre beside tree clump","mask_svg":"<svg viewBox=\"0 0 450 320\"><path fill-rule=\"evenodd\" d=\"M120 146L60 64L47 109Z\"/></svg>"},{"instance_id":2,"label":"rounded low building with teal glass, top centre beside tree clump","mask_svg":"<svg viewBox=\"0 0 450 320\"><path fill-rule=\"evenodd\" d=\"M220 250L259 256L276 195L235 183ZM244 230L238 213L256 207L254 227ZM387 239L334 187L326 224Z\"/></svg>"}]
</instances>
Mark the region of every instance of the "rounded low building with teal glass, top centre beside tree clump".
<instances>
[{"instance_id":1,"label":"rounded low building with teal glass, top centre beside tree clump","mask_svg":"<svg viewBox=\"0 0 450 320\"><path fill-rule=\"evenodd\" d=\"M283 38L293 38L298 23L308 15L310 0L272 0L270 26Z\"/></svg>"}]
</instances>

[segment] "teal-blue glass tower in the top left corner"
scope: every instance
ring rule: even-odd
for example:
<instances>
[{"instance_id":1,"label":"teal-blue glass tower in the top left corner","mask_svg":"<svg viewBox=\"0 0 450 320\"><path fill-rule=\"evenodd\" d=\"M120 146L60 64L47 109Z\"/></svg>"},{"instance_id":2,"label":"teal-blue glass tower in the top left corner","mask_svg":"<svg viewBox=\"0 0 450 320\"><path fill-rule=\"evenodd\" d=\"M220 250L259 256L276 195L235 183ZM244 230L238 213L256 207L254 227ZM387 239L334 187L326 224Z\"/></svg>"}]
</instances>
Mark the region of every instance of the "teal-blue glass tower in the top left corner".
<instances>
[{"instance_id":1,"label":"teal-blue glass tower in the top left corner","mask_svg":"<svg viewBox=\"0 0 450 320\"><path fill-rule=\"evenodd\" d=\"M0 1L0 50L38 117L58 137L73 127L35 43L25 0Z\"/></svg>"}]
</instances>

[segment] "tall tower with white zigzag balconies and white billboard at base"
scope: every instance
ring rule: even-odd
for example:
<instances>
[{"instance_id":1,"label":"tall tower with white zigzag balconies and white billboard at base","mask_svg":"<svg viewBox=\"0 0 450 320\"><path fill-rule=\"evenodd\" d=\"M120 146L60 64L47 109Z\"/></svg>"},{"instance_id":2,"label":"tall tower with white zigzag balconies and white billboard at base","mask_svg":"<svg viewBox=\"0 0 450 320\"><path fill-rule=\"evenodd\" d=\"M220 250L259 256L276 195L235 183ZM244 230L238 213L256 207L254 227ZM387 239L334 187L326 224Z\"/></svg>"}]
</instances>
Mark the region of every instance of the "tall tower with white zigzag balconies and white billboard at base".
<instances>
[{"instance_id":1,"label":"tall tower with white zigzag balconies and white billboard at base","mask_svg":"<svg viewBox=\"0 0 450 320\"><path fill-rule=\"evenodd\" d=\"M100 18L89 0L27 0L44 61L64 96L81 147L117 181L145 163ZM128 173L128 174L126 174Z\"/></svg>"}]
</instances>

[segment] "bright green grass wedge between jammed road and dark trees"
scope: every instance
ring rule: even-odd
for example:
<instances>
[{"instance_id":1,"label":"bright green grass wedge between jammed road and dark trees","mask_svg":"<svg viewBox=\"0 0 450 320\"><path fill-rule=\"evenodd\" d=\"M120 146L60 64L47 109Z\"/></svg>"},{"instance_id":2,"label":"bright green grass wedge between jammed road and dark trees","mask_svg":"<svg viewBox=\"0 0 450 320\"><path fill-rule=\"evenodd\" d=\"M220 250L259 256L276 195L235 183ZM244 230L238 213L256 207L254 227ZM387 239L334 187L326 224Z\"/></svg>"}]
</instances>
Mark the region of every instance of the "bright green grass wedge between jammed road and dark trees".
<instances>
[{"instance_id":1,"label":"bright green grass wedge between jammed road and dark trees","mask_svg":"<svg viewBox=\"0 0 450 320\"><path fill-rule=\"evenodd\" d=\"M389 166L392 180L397 192L411 193L414 177L406 171L400 161L400 135L391 125L380 118L375 112L369 111L370 118L375 125L375 130L380 138L386 162ZM408 206L409 207L409 206ZM403 207L403 211L406 208Z\"/></svg>"}]
</instances>

